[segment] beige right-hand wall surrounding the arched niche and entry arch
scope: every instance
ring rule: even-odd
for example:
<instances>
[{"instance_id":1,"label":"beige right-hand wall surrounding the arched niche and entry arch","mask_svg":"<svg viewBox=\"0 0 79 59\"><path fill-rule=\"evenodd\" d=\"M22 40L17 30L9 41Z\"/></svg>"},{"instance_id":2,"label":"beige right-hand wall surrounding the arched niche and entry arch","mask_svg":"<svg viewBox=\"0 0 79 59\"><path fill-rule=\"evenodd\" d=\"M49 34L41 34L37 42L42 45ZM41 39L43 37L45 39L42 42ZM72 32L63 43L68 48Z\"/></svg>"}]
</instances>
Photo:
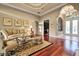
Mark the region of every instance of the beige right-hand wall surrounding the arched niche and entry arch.
<instances>
[{"instance_id":1,"label":"beige right-hand wall surrounding the arched niche and entry arch","mask_svg":"<svg viewBox=\"0 0 79 59\"><path fill-rule=\"evenodd\" d=\"M72 4L71 3L71 5L73 5L75 9L79 10L79 4ZM44 16L41 17L41 20L45 20L45 19L49 18L49 20L50 20L49 34L52 37L63 34L63 31L62 32L58 32L57 31L57 17L60 14L61 8L59 8L59 9L57 9L55 11L52 11L51 13L48 13L48 14L46 14L46 15L44 15ZM65 19L63 18L63 26L64 26L64 21L65 21Z\"/></svg>"}]
</instances>

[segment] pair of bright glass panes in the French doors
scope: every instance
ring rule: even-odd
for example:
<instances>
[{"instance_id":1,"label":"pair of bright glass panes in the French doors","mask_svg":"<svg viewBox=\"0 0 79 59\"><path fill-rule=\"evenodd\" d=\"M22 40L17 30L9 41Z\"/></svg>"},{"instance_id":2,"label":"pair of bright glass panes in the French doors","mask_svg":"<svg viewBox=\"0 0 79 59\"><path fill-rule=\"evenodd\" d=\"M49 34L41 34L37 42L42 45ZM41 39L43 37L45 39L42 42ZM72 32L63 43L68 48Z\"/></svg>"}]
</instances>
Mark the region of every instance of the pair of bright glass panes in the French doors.
<instances>
[{"instance_id":1,"label":"pair of bright glass panes in the French doors","mask_svg":"<svg viewBox=\"0 0 79 59\"><path fill-rule=\"evenodd\" d=\"M78 35L78 20L65 21L65 34Z\"/></svg>"}]
</instances>

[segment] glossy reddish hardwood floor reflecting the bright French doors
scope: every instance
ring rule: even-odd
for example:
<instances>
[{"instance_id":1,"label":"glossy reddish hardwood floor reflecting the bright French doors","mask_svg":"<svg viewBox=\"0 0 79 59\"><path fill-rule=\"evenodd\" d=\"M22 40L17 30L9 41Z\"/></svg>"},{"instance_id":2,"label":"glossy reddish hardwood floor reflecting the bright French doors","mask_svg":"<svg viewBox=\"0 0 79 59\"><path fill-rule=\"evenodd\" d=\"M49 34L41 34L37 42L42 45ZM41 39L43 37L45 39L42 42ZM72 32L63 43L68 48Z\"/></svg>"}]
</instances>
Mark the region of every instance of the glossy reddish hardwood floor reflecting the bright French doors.
<instances>
[{"instance_id":1,"label":"glossy reddish hardwood floor reflecting the bright French doors","mask_svg":"<svg viewBox=\"0 0 79 59\"><path fill-rule=\"evenodd\" d=\"M78 37L67 38L67 36L64 39L51 37L49 42L52 45L33 54L33 56L74 56L76 49L79 48Z\"/></svg>"}]
</instances>

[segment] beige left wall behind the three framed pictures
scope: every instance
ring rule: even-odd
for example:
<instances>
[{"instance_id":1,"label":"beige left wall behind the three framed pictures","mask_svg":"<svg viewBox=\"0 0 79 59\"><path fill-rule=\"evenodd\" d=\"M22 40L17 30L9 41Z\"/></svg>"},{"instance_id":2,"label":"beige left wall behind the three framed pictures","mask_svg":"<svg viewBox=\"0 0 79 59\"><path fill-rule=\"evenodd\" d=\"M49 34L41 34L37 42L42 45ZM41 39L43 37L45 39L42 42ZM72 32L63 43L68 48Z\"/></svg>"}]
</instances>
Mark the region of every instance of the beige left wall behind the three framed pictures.
<instances>
[{"instance_id":1,"label":"beige left wall behind the three framed pictures","mask_svg":"<svg viewBox=\"0 0 79 59\"><path fill-rule=\"evenodd\" d=\"M12 18L12 20L13 20L12 26L3 26L3 17ZM35 24L35 21L39 20L38 16L29 14L29 13L25 13L25 12L22 12L20 10L16 10L14 8L10 8L10 7L6 7L6 6L3 6L3 5L0 5L0 29L2 29L2 27L3 28L7 28L7 27L21 28L21 27L14 26L14 19L29 20L30 24L33 26L34 32L36 33L36 24Z\"/></svg>"}]
</instances>

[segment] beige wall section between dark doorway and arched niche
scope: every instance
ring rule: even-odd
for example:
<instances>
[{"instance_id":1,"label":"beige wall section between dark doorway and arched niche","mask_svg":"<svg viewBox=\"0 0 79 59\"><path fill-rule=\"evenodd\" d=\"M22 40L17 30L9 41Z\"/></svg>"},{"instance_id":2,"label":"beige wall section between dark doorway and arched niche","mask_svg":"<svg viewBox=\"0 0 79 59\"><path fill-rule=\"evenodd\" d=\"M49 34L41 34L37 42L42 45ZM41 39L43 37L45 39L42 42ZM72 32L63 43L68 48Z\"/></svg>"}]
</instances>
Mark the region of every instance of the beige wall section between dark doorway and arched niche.
<instances>
[{"instance_id":1,"label":"beige wall section between dark doorway and arched niche","mask_svg":"<svg viewBox=\"0 0 79 59\"><path fill-rule=\"evenodd\" d=\"M49 29L49 35L50 36L56 36L57 34L57 17L59 15L60 9L55 10L54 12L51 12L49 14L46 14L41 17L41 20L49 19L50 21L50 29Z\"/></svg>"}]
</instances>

